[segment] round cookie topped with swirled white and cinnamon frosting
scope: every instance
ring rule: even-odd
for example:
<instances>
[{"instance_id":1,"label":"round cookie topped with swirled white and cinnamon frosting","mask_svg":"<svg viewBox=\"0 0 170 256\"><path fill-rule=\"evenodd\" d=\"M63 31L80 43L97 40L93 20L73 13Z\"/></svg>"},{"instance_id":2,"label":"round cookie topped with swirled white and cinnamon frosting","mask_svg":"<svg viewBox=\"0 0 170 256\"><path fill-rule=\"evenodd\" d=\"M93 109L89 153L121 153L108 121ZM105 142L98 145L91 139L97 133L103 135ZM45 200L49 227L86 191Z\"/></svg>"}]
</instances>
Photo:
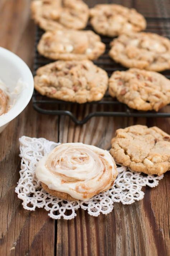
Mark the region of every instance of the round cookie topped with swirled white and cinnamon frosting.
<instances>
[{"instance_id":1,"label":"round cookie topped with swirled white and cinnamon frosting","mask_svg":"<svg viewBox=\"0 0 170 256\"><path fill-rule=\"evenodd\" d=\"M87 200L113 186L117 169L106 150L65 143L44 156L36 167L42 187L64 200Z\"/></svg>"}]
</instances>

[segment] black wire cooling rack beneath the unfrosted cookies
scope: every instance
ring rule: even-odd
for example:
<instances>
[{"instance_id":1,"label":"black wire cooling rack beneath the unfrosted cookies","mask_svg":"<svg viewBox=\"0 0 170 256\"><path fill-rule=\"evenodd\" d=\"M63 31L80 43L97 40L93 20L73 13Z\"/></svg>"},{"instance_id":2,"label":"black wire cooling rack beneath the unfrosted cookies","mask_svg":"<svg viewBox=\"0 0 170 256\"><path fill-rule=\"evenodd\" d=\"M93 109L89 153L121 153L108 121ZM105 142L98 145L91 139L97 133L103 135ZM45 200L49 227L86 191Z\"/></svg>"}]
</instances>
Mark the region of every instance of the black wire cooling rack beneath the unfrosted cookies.
<instances>
[{"instance_id":1,"label":"black wire cooling rack beneath the unfrosted cookies","mask_svg":"<svg viewBox=\"0 0 170 256\"><path fill-rule=\"evenodd\" d=\"M170 39L170 17L147 17L147 32L158 33L159 35L166 36ZM93 30L90 25L86 29ZM34 75L37 68L52 62L52 60L46 59L39 55L37 51L37 44L39 39L43 34L43 30L37 27L36 30L36 44L35 44L35 59L34 59ZM105 53L94 63L105 69L108 76L116 70L126 70L126 68L120 66L118 63L115 63L108 56L109 43L112 38L101 36L102 42L106 44ZM170 70L162 72L167 78L170 79ZM170 105L162 108L159 112L154 111L137 111L130 109L127 105L118 102L117 100L110 97L108 93L105 94L104 98L98 102L90 102L84 104L64 102L61 100L55 100L42 96L37 91L34 91L33 94L33 107L38 112L43 114L52 114L52 115L67 115L70 116L72 121L76 124L84 124L91 117L94 116L115 116L115 117L170 117ZM79 118L79 111L84 113L83 117Z\"/></svg>"}]
</instances>

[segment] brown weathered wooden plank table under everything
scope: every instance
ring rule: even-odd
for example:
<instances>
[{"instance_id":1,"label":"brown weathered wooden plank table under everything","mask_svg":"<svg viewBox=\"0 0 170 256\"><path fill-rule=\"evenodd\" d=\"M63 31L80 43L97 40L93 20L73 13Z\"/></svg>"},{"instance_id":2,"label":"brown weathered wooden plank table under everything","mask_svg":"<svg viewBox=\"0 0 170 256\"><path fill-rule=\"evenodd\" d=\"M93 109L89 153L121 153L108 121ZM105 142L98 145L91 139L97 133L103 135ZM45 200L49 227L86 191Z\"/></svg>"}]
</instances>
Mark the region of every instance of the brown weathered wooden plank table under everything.
<instances>
[{"instance_id":1,"label":"brown weathered wooden plank table under everything","mask_svg":"<svg viewBox=\"0 0 170 256\"><path fill-rule=\"evenodd\" d=\"M102 1L86 2L92 6ZM160 3L144 2L152 9ZM140 5L140 1L135 3ZM32 68L35 26L30 20L29 5L29 0L0 1L0 46L18 54ZM43 209L24 210L14 192L20 170L20 136L83 142L109 149L115 130L133 124L156 125L170 133L170 118L100 117L76 126L69 117L37 113L30 102L0 134L0 255L170 255L170 173L165 174L158 187L144 188L142 201L132 205L114 203L107 216L91 217L78 210L77 217L70 221L49 219Z\"/></svg>"}]
</instances>

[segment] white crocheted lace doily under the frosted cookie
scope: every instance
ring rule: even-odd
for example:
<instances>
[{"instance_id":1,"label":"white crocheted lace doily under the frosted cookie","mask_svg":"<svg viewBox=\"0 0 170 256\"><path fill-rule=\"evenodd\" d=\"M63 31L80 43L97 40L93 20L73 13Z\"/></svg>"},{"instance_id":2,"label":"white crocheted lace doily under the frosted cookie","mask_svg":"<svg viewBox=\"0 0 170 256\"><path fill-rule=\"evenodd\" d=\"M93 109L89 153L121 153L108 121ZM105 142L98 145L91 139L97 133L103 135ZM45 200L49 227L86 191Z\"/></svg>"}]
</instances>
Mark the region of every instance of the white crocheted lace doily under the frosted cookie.
<instances>
[{"instance_id":1,"label":"white crocheted lace doily under the frosted cookie","mask_svg":"<svg viewBox=\"0 0 170 256\"><path fill-rule=\"evenodd\" d=\"M133 172L127 167L118 166L118 176L111 189L100 193L89 201L63 201L48 194L38 182L35 176L37 162L49 153L58 144L44 138L29 138L22 136L20 139L21 170L18 185L15 192L18 198L23 200L23 207L26 210L45 208L49 211L49 217L53 219L73 219L76 210L82 208L88 214L98 216L100 213L108 214L113 210L114 202L121 202L129 205L134 201L141 200L144 193L143 186L156 187L163 175L144 175L141 172Z\"/></svg>"}]
</instances>

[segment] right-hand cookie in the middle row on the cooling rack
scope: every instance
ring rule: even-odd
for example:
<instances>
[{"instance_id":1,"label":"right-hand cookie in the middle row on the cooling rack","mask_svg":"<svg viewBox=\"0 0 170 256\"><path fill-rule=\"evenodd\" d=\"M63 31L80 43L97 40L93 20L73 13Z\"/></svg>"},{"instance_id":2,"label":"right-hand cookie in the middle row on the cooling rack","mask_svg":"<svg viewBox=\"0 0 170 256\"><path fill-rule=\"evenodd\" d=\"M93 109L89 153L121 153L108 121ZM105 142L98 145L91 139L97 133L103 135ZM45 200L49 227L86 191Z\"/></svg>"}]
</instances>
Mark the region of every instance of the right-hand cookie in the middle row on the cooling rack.
<instances>
[{"instance_id":1,"label":"right-hand cookie in the middle row on the cooling rack","mask_svg":"<svg viewBox=\"0 0 170 256\"><path fill-rule=\"evenodd\" d=\"M154 33L129 33L114 39L109 55L128 68L163 71L170 68L170 40Z\"/></svg>"}]
</instances>

